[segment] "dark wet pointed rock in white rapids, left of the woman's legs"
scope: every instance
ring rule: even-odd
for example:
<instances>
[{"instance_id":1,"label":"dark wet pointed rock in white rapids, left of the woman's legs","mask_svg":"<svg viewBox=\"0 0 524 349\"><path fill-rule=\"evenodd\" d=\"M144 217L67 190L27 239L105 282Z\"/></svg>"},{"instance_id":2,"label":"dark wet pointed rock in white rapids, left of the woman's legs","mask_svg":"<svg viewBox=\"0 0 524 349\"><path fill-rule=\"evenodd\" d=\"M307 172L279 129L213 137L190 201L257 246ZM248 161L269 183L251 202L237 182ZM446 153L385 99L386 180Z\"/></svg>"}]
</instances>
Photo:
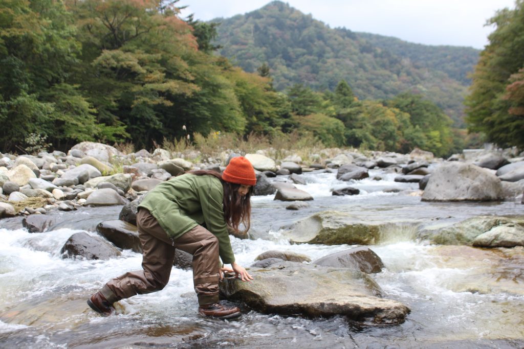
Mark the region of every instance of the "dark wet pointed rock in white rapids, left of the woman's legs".
<instances>
[{"instance_id":1,"label":"dark wet pointed rock in white rapids, left of the woman's legs","mask_svg":"<svg viewBox=\"0 0 524 349\"><path fill-rule=\"evenodd\" d=\"M109 260L122 253L107 241L81 231L69 237L60 250L60 255L62 258Z\"/></svg>"}]
</instances>

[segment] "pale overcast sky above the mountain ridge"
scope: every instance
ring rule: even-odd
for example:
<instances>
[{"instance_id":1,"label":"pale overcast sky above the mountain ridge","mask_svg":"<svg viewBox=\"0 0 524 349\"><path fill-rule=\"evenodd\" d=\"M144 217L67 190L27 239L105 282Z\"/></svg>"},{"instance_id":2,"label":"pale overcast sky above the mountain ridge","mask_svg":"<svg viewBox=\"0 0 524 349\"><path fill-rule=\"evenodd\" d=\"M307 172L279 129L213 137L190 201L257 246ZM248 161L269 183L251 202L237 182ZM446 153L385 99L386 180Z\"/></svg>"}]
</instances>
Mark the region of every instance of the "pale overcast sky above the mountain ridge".
<instances>
[{"instance_id":1,"label":"pale overcast sky above the mountain ridge","mask_svg":"<svg viewBox=\"0 0 524 349\"><path fill-rule=\"evenodd\" d=\"M182 16L210 20L252 12L269 0L180 0L188 5ZM514 0L288 0L331 28L396 37L429 45L470 46L482 49L493 27L486 20L498 9L515 8Z\"/></svg>"}]
</instances>

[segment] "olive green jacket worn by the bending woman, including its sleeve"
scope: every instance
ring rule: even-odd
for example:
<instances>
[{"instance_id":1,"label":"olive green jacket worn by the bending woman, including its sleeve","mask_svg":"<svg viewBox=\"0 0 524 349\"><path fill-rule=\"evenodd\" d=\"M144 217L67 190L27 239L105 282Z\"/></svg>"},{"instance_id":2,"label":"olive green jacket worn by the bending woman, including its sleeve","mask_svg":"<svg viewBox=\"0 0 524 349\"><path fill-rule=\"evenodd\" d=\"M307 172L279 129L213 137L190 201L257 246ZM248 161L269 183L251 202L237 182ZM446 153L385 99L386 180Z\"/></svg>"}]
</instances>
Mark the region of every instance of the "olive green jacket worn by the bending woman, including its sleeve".
<instances>
[{"instance_id":1,"label":"olive green jacket worn by the bending woman, including its sleeve","mask_svg":"<svg viewBox=\"0 0 524 349\"><path fill-rule=\"evenodd\" d=\"M219 239L222 262L235 261L224 218L224 188L211 175L183 174L158 184L138 207L146 208L171 239L204 225Z\"/></svg>"}]
</instances>

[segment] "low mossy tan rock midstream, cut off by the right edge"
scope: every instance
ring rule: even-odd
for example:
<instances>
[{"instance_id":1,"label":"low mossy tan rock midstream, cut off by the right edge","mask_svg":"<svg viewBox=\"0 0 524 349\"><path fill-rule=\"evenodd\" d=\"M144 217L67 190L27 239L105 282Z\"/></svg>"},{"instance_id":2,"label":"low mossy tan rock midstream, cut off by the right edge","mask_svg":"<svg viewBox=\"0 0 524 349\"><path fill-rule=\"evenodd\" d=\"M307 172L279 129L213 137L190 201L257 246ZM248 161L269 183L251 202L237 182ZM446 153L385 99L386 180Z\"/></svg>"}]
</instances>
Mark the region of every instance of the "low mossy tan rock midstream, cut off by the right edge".
<instances>
[{"instance_id":1,"label":"low mossy tan rock midstream, cut off by the right edge","mask_svg":"<svg viewBox=\"0 0 524 349\"><path fill-rule=\"evenodd\" d=\"M475 242L476 246L482 247L508 247L521 245L524 235L519 237L519 234L524 234L524 216L477 216L451 227L423 230L419 232L419 238L440 245L471 246ZM477 240L479 236L481 238Z\"/></svg>"}]
</instances>

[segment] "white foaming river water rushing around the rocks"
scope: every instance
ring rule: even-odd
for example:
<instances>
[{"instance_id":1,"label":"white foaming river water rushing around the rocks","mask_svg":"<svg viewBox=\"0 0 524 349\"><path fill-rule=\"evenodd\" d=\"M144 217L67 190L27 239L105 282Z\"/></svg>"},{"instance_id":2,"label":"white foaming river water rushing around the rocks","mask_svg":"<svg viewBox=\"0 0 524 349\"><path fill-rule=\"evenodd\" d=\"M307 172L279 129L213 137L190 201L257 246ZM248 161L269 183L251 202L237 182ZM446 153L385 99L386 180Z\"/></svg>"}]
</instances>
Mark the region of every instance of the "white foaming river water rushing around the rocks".
<instances>
[{"instance_id":1,"label":"white foaming river water rushing around the rocks","mask_svg":"<svg viewBox=\"0 0 524 349\"><path fill-rule=\"evenodd\" d=\"M411 309L400 325L369 326L345 317L304 319L243 309L235 321L197 315L191 271L173 268L165 289L117 303L103 318L86 299L110 278L140 269L141 255L124 251L109 261L60 258L73 232L96 234L96 224L117 219L121 207L53 212L57 224L28 233L21 218L0 220L0 347L15 348L515 348L524 347L523 249L481 250L417 242L417 229L477 215L521 215L520 201L489 204L421 202L417 184L372 171L352 183L356 196L331 196L346 186L333 173L304 174L297 185L313 195L310 206L286 210L273 196L253 198L249 240L231 237L237 261L249 266L267 250L291 250L312 260L349 245L290 244L281 227L315 212L351 212L368 222L388 221L385 239L369 246L386 269L374 274L385 298ZM379 180L377 180L379 179ZM397 188L400 193L384 193ZM466 250L464 250L466 249Z\"/></svg>"}]
</instances>

